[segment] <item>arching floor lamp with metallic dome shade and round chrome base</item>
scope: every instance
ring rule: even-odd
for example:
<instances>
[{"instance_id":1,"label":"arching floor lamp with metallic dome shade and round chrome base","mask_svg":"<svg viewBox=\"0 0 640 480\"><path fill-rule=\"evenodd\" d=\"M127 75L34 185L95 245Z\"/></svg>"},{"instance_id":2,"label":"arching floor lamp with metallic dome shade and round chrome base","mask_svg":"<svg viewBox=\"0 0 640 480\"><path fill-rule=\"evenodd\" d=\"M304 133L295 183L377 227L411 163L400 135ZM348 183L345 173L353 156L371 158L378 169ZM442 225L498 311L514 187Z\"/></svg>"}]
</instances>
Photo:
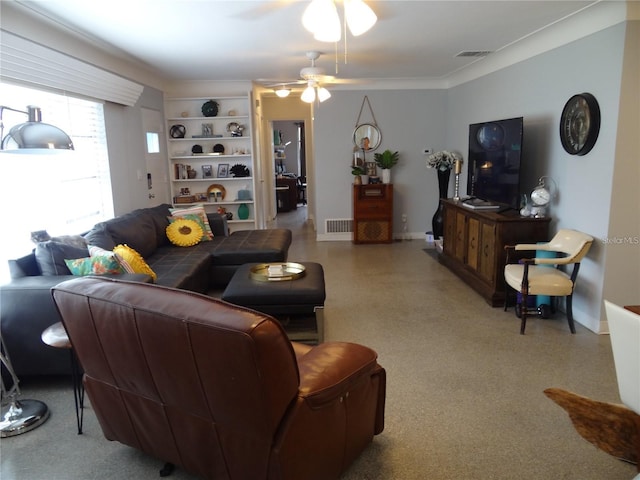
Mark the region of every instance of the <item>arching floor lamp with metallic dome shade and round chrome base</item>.
<instances>
[{"instance_id":1,"label":"arching floor lamp with metallic dome shade and round chrome base","mask_svg":"<svg viewBox=\"0 0 640 480\"><path fill-rule=\"evenodd\" d=\"M15 125L6 137L2 121L5 110L24 113L29 120ZM41 110L35 106L28 106L26 111L0 105L0 152L42 154L55 150L73 150L71 138L58 127L42 123ZM4 376L0 378L2 397L0 417L0 437L11 437L33 430L42 425L49 418L49 408L39 400L20 399L19 380L11 365L9 353L0 333L0 366L11 377L11 387L7 389ZM4 372L2 372L4 373Z\"/></svg>"}]
</instances>

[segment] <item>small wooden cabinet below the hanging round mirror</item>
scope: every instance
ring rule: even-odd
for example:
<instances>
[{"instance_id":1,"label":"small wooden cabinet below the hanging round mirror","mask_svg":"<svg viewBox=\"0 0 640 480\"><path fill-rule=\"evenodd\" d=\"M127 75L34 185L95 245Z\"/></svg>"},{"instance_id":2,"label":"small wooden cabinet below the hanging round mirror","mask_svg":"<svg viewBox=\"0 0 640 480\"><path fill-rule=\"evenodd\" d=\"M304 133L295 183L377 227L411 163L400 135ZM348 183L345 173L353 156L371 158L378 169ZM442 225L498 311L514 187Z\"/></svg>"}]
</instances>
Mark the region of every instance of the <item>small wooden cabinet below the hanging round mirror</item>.
<instances>
[{"instance_id":1,"label":"small wooden cabinet below the hanging round mirror","mask_svg":"<svg viewBox=\"0 0 640 480\"><path fill-rule=\"evenodd\" d=\"M353 186L353 243L393 241L393 185Z\"/></svg>"}]
</instances>

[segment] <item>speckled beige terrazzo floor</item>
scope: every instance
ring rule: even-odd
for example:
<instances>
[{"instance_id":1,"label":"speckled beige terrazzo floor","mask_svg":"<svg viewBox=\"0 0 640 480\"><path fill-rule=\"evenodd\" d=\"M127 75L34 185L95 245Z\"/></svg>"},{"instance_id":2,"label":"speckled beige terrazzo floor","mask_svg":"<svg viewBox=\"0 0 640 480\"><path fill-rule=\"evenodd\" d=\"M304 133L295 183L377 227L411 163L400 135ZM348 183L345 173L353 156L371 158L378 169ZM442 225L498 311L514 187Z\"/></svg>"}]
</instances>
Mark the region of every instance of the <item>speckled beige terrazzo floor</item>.
<instances>
[{"instance_id":1,"label":"speckled beige terrazzo floor","mask_svg":"<svg viewBox=\"0 0 640 480\"><path fill-rule=\"evenodd\" d=\"M385 431L342 480L634 478L635 466L579 437L542 393L555 386L619 402L608 336L580 325L571 335L561 314L532 319L521 336L512 311L488 306L424 241L315 242L299 221L305 210L278 225L294 231L290 260L324 267L325 339L368 345L387 370ZM24 397L52 415L0 441L0 478L158 478L161 462L104 440L90 407L76 435L68 384L23 381ZM194 477L177 469L169 478Z\"/></svg>"}]
</instances>

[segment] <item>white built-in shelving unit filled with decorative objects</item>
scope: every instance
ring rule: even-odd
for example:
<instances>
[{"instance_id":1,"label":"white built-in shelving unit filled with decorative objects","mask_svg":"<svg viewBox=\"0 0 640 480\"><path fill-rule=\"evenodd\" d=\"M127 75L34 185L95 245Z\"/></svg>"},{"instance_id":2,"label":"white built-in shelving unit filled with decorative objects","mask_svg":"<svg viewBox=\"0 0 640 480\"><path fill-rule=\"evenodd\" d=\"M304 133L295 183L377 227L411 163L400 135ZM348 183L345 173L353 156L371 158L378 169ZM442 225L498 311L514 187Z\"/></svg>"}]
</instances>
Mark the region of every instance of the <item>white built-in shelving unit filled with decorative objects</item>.
<instances>
[{"instance_id":1,"label":"white built-in shelving unit filled with decorative objects","mask_svg":"<svg viewBox=\"0 0 640 480\"><path fill-rule=\"evenodd\" d=\"M209 101L218 104L214 116L203 114ZM231 229L256 228L249 96L166 98L165 113L174 205L202 203L207 211L231 213ZM246 176L234 175L235 165Z\"/></svg>"}]
</instances>

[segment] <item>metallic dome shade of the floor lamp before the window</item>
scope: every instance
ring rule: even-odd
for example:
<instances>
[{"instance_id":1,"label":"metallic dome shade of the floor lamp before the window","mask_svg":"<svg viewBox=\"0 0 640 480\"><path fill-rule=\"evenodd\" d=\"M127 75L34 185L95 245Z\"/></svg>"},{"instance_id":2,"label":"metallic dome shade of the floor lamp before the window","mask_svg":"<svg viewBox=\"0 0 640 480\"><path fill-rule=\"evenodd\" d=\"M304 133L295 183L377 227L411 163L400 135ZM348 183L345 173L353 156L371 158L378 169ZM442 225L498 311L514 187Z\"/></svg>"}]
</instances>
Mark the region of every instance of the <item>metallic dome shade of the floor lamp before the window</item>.
<instances>
[{"instance_id":1,"label":"metallic dome shade of the floor lamp before the window","mask_svg":"<svg viewBox=\"0 0 640 480\"><path fill-rule=\"evenodd\" d=\"M1 150L11 153L42 153L42 150L73 150L69 135L54 125L42 122L42 111L33 105L27 111L0 106L0 136L4 130L2 113L4 110L24 113L29 117L25 123L15 125L2 139ZM38 152L35 152L37 150Z\"/></svg>"}]
</instances>

